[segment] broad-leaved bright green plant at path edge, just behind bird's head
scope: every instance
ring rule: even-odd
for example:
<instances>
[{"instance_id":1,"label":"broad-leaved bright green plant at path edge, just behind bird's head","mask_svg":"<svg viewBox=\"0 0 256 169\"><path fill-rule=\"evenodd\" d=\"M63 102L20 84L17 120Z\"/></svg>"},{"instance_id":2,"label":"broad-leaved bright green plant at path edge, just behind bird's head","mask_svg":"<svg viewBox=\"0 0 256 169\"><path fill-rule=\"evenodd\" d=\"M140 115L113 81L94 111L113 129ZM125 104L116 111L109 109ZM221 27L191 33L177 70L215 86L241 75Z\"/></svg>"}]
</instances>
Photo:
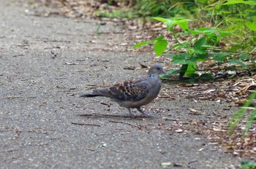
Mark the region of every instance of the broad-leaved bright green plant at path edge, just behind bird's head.
<instances>
[{"instance_id":1,"label":"broad-leaved bright green plant at path edge, just behind bird's head","mask_svg":"<svg viewBox=\"0 0 256 169\"><path fill-rule=\"evenodd\" d=\"M219 41L225 37L230 36L232 33L227 31L218 30L215 28L197 28L195 30L189 29L189 20L183 18L171 18L165 19L162 17L154 17L154 19L159 20L167 25L167 31L173 33L176 44L173 44L169 50L185 50L178 54L165 54L168 57L172 58L174 64L180 64L181 68L176 71L169 71L167 75L179 74L179 78L183 79L184 76L192 77L193 79L206 78L211 79L211 74L195 74L198 71L198 63L205 62L206 60L215 60L218 63L223 63L224 60L228 57L231 57L230 52L217 52L217 44ZM179 42L178 36L181 34L176 34L174 27L178 25L183 30L183 36L191 36L188 41ZM163 52L167 50L168 41L164 36L159 36L156 39L153 39L148 42L140 42L135 44L134 48L154 43L154 52L157 56L162 55ZM233 59L230 63L236 63L241 66L246 67L244 63L240 60Z\"/></svg>"}]
</instances>

